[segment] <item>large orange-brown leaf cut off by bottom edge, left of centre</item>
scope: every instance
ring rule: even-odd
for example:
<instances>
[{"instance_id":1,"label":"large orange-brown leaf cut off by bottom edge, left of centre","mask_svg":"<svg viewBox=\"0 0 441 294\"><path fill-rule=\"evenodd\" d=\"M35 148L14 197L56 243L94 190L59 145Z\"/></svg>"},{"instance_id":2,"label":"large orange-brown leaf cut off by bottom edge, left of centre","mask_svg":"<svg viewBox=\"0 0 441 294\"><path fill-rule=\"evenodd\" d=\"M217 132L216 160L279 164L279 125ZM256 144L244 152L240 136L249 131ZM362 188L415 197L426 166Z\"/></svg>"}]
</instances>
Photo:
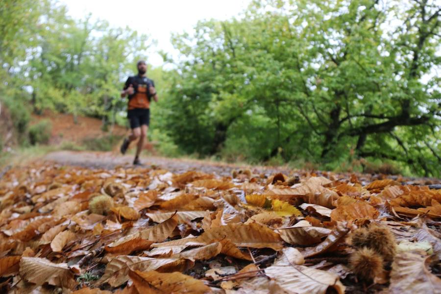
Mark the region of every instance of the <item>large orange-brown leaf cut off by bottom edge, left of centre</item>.
<instances>
[{"instance_id":1,"label":"large orange-brown leaf cut off by bottom edge, left of centre","mask_svg":"<svg viewBox=\"0 0 441 294\"><path fill-rule=\"evenodd\" d=\"M180 272L130 271L130 278L139 293L212 293L210 287L200 280Z\"/></svg>"}]
</instances>

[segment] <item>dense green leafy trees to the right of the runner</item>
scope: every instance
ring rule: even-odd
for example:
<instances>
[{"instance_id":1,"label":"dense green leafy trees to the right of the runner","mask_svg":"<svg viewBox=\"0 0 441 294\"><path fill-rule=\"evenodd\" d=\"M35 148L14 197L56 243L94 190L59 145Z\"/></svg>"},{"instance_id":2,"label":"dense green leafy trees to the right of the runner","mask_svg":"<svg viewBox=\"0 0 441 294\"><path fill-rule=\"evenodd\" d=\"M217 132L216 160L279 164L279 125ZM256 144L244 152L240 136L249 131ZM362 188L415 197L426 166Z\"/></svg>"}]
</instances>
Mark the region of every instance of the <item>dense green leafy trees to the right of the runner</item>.
<instances>
[{"instance_id":1,"label":"dense green leafy trees to the right of the runner","mask_svg":"<svg viewBox=\"0 0 441 294\"><path fill-rule=\"evenodd\" d=\"M201 156L440 176L439 17L435 1L268 0L199 22L173 36L158 126Z\"/></svg>"}]
</instances>

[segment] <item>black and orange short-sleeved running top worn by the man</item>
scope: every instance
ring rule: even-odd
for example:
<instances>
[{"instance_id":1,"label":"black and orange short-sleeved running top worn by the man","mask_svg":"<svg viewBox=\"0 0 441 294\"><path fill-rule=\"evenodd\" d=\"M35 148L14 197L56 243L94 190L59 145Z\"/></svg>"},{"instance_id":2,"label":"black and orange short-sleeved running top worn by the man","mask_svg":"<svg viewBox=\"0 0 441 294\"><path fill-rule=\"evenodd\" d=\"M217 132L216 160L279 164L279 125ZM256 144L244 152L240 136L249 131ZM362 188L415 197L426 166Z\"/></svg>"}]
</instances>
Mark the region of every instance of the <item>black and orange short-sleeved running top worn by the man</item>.
<instances>
[{"instance_id":1,"label":"black and orange short-sleeved running top worn by the man","mask_svg":"<svg viewBox=\"0 0 441 294\"><path fill-rule=\"evenodd\" d=\"M149 79L146 76L129 76L124 84L124 90L126 90L130 84L133 86L135 92L133 95L129 95L128 109L148 109L150 105L150 99L152 95L150 95L148 88L150 86L155 86L153 80Z\"/></svg>"}]
</instances>

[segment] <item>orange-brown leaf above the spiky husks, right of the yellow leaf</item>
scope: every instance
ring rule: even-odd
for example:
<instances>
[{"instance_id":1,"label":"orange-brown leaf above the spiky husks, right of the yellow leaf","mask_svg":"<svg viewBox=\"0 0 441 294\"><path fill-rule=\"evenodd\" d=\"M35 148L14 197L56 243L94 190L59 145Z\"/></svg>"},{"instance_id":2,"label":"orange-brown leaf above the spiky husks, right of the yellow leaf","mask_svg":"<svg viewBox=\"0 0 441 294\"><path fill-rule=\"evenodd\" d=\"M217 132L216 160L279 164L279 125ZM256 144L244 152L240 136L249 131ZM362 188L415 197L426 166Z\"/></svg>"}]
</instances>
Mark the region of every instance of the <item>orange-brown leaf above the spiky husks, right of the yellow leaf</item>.
<instances>
[{"instance_id":1,"label":"orange-brown leaf above the spiky husks, right of the yellow leaf","mask_svg":"<svg viewBox=\"0 0 441 294\"><path fill-rule=\"evenodd\" d=\"M331 212L331 221L375 220L379 215L379 211L367 202L356 202L334 209Z\"/></svg>"}]
</instances>

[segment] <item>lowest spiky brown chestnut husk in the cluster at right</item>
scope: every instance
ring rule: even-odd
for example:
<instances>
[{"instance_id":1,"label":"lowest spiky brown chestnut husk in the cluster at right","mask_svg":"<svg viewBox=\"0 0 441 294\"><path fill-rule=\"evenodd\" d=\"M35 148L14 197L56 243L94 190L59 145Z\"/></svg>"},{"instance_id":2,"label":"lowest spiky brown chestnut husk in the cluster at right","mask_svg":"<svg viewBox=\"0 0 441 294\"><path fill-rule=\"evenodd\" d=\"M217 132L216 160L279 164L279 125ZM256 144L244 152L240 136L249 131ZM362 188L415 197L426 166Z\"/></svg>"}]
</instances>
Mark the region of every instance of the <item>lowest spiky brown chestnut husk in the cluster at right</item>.
<instances>
[{"instance_id":1,"label":"lowest spiky brown chestnut husk in the cluster at right","mask_svg":"<svg viewBox=\"0 0 441 294\"><path fill-rule=\"evenodd\" d=\"M375 250L363 247L351 254L349 266L360 279L370 282L383 271L384 259Z\"/></svg>"}]
</instances>

